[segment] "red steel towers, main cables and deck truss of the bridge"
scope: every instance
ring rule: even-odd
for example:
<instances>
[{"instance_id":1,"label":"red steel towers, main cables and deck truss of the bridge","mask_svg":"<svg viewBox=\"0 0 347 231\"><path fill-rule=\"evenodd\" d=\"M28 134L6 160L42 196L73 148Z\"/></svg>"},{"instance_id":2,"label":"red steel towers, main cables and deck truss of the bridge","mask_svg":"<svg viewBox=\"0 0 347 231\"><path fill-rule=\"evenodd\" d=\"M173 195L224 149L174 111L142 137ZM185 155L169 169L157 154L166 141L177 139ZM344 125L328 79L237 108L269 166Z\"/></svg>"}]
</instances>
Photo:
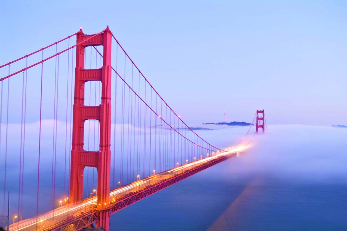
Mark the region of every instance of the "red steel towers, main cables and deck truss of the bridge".
<instances>
[{"instance_id":1,"label":"red steel towers, main cables and deck truss of the bridge","mask_svg":"<svg viewBox=\"0 0 347 231\"><path fill-rule=\"evenodd\" d=\"M69 37L71 37L71 36L69 36ZM69 37L67 37L67 38L69 38ZM76 45L71 46L71 47L69 47L69 48L67 48L67 49L65 49L59 53L56 53L55 55L52 55L46 59L42 59L42 61L40 61L40 62L37 62L35 64L27 66L25 69L14 72L12 74L9 73L9 75L0 79L0 81L2 81L6 78L9 78L9 77L11 77L11 76L13 76L19 72L25 71L25 70L27 70L27 69L35 66L35 65L43 63L46 60L51 59L52 57L55 57L61 53L64 53L64 52L66 52L66 51L68 51L71 48L76 46L75 97L74 97L73 124L72 124L72 134L73 135L72 135L72 150L71 150L70 196L69 196L69 199L70 199L70 203L76 203L76 204L79 204L81 202L83 203L83 170L85 167L95 167L98 171L98 186L97 186L98 187L98 189L97 189L98 190L98 196L97 196L98 201L97 201L97 204L92 207L91 211L86 212L87 210L85 210L85 212L81 212L80 215L76 215L76 214L75 214L75 216L70 215L69 217L67 217L66 221L61 222L59 224L55 224L54 228L52 227L52 228L49 228L47 230L81 230L85 227L90 226L91 224L96 223L97 226L101 226L105 230L108 231L109 230L109 223L110 223L110 215L112 213L115 213L115 212L129 206L129 205L132 205L133 203L136 203L137 201L140 201L141 199L146 198L147 196L150 196L156 192L159 192L160 190L162 190L166 187L171 186L172 184L179 182L180 180L183 180L189 176L192 176L193 174L196 174L197 172L200 172L206 168L209 168L213 165L216 165L217 163L222 162L222 161L229 159L230 157L233 157L236 155L236 153L232 153L232 154L228 154L227 156L216 157L216 159L209 160L209 162L201 163L200 165L195 165L195 167L192 167L191 169L187 169L183 172L177 172L177 173L174 171L163 172L165 174L165 177L166 177L166 174L168 174L167 178L158 180L158 182L156 182L155 184L152 184L152 185L142 186L142 188L138 188L134 192L124 194L121 197L119 197L116 201L110 202L110 176L111 176L111 174L110 174L110 163L111 163L110 134L111 134L111 71L112 70L115 71L115 73L125 83L125 85L127 87L129 87L129 94L130 94L130 90L131 90L135 94L135 96L137 96L138 99L141 100L144 103L144 105L147 106L151 110L151 112L153 112L156 116L158 116L164 122L164 124L168 125L168 127L170 127L172 129L172 131L175 131L178 135L181 135L181 139L183 137L186 140L188 140L189 142L192 142L194 144L193 145L194 146L194 152L195 152L195 145L196 145L196 148L200 147L200 148L204 148L205 150L210 150L210 151L221 150L221 149L215 148L213 145L207 143L206 141L205 141L206 144L210 145L212 148L215 148L216 150L206 148L204 145L201 145L201 143L198 144L192 140L189 140L189 137L184 136L183 132L180 133L177 130L177 128L175 128L175 125L172 126L171 123L169 124L167 121L165 121L159 114L157 114L157 110L152 109L151 106L148 105L145 102L145 100L143 100L139 96L139 94L133 90L133 88L125 81L125 78L122 78L118 74L118 72L114 68L112 68L112 66L111 66L112 37L115 38L112 35L111 31L109 30L109 27L107 27L107 29L103 30L102 32L100 32L98 34L93 34L93 35L85 35L81 29L79 32L76 33L76 40L77 40ZM57 43L65 40L67 38L64 38L64 39L62 39L62 40L60 40L54 44L57 44ZM116 40L116 42L118 43L117 40ZM51 44L49 46L52 46L54 44ZM96 50L96 51L103 57L102 68L100 68L100 69L85 69L85 55L84 55L85 48L87 46L93 46L94 47L94 46L100 46L100 45L103 46L103 54L101 54L98 50ZM49 46L47 46L47 47L49 47ZM119 44L119 46L120 46L120 44ZM43 51L47 47L44 47L39 51ZM121 49L124 51L124 49L122 47L121 47ZM36 51L34 53L37 53L37 52L38 51ZM34 53L31 53L31 54L34 54ZM29 55L31 55L31 54L29 54ZM27 57L29 55L23 56L23 57L15 60L15 61L23 59L24 57ZM125 55L130 59L130 57L128 56L128 54L126 52L125 52ZM13 62L15 62L15 61L13 61ZM131 59L130 59L130 61L135 66L135 68L139 71L139 73L143 76L145 81L155 91L155 89L148 82L148 80L144 77L144 75L137 68L137 66L134 64L134 62ZM13 63L13 62L10 62L10 63ZM9 65L10 63L5 64L5 65ZM2 65L2 66L5 66L5 65ZM42 76L41 76L41 81L42 81ZM101 82L101 104L99 106L85 106L84 105L84 101L85 101L84 100L84 96L85 96L84 88L85 88L85 83L87 81L100 81ZM72 84L72 82L71 82L71 84ZM71 94L72 94L72 91L71 91ZM158 94L158 92L156 92L156 94L161 98L161 96ZM166 102L163 99L162 99L162 102L164 102L166 104ZM168 108L173 112L173 110L169 106L168 106ZM183 124L185 124L185 123L181 120L180 116L178 116L175 112L173 112L173 113L182 122L182 127L183 127ZM96 151L96 152L95 151L86 151L83 149L84 124L85 124L85 121L88 119L97 119L100 122L100 137L99 137L100 151ZM256 133L258 133L259 128L262 128L262 131L264 133L264 126L265 126L264 120L265 120L264 110L257 110L256 111ZM170 118L170 121L171 121L171 118ZM179 124L178 124L178 127L179 127ZM248 131L249 131L249 129L248 129ZM248 133L248 131L247 131L247 133ZM193 133L196 134L192 130L192 137L193 137ZM246 135L247 135L247 133L246 133ZM196 136L199 137L200 139L202 139L197 134L196 134ZM253 139L253 137L251 139ZM247 143L247 145L248 145L248 143ZM198 149L196 149L196 150L198 150ZM175 153L175 151L174 151L174 153ZM178 152L177 152L177 154L178 154ZM194 159L195 159L195 157L194 157ZM177 161L178 161L178 159L177 159ZM156 176L155 176L155 178L156 178ZM38 196L38 194L37 194L37 196ZM54 212L53 212L53 215L54 215ZM36 218L36 220L37 220L37 218ZM36 229L37 229L37 222L36 222Z\"/></svg>"}]
</instances>

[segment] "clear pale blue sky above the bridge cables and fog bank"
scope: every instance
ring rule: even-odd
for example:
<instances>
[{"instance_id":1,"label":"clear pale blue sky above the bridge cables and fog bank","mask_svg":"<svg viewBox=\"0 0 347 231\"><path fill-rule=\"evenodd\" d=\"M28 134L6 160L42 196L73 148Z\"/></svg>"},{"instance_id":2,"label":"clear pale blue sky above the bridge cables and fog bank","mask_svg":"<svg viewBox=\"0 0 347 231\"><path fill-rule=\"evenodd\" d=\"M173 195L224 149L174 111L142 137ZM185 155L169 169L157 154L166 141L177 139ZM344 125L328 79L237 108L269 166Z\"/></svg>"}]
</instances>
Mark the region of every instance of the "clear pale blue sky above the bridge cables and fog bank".
<instances>
[{"instance_id":1,"label":"clear pale blue sky above the bridge cables and fog bank","mask_svg":"<svg viewBox=\"0 0 347 231\"><path fill-rule=\"evenodd\" d=\"M110 25L188 123L347 124L346 1L1 1L0 63Z\"/></svg>"}]
</instances>

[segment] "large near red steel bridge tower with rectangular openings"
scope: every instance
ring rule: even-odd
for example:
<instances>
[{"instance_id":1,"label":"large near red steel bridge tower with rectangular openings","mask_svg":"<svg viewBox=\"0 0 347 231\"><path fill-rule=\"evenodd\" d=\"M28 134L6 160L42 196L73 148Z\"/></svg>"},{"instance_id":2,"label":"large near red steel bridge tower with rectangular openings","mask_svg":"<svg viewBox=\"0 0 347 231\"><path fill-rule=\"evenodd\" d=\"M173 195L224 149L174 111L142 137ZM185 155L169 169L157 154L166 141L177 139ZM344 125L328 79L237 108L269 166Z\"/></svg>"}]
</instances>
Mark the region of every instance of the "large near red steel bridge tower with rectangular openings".
<instances>
[{"instance_id":1,"label":"large near red steel bridge tower with rectangular openings","mask_svg":"<svg viewBox=\"0 0 347 231\"><path fill-rule=\"evenodd\" d=\"M81 41L84 41L81 43ZM109 211L103 210L109 204L111 168L111 42L112 33L107 27L103 33L85 35L77 33L75 101L73 109L73 132L71 150L70 202L83 199L83 170L95 167L98 170L98 226L108 230ZM101 69L84 69L84 50L87 46L103 45L103 66ZM84 105L84 85L87 81L101 80L101 105ZM100 151L83 149L84 122L97 119L100 122Z\"/></svg>"}]
</instances>

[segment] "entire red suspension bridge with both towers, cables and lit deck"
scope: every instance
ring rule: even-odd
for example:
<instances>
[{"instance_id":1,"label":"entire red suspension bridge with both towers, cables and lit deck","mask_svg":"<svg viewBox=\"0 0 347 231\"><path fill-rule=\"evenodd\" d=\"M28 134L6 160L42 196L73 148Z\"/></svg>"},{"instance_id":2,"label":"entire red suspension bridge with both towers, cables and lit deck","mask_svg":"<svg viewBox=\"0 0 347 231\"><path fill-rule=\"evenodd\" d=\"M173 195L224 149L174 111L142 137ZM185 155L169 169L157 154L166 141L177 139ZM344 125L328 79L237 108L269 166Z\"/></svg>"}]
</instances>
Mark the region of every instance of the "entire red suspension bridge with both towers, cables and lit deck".
<instances>
[{"instance_id":1,"label":"entire red suspension bridge with both towers, cables and lit deck","mask_svg":"<svg viewBox=\"0 0 347 231\"><path fill-rule=\"evenodd\" d=\"M234 146L205 141L159 95L109 27L92 35L81 28L1 65L0 76L4 214L7 191L16 191L11 231L108 230L111 214L238 155L266 125L264 110L257 109Z\"/></svg>"}]
</instances>

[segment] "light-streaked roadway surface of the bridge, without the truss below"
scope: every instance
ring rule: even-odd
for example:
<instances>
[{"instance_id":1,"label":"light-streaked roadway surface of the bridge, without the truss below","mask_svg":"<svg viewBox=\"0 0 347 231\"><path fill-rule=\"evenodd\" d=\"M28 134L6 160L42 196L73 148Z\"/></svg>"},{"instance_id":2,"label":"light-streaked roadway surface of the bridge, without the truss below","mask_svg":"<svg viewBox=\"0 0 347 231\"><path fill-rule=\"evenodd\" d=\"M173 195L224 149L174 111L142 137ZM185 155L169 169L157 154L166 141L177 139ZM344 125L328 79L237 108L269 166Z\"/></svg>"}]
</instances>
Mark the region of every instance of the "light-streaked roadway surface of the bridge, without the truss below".
<instances>
[{"instance_id":1,"label":"light-streaked roadway surface of the bridge, without the truss below","mask_svg":"<svg viewBox=\"0 0 347 231\"><path fill-rule=\"evenodd\" d=\"M172 168L170 170L160 172L158 174L146 177L144 179L134 181L128 185L115 188L110 191L110 206L111 204L120 202L122 198L127 197L129 194L139 192L148 188L151 185L155 185L160 183L161 181L166 181L170 178L174 178L179 174L183 174L184 172L188 172L194 168L207 165L208 163L218 160L220 158L232 156L235 153L238 154L238 152L241 152L244 149L244 146L239 146L233 149L229 148L229 151L217 153L210 157L205 157L190 163L186 163L176 168ZM36 217L33 217L11 224L9 226L9 230L52 230L54 228L58 228L58 226L61 226L64 223L68 223L67 220L73 220L75 217L84 215L86 213L92 214L93 211L96 212L97 201L98 196L96 195L94 197L84 199L80 204L67 204L60 208L56 208L54 210L41 214L37 217L37 219Z\"/></svg>"}]
</instances>

